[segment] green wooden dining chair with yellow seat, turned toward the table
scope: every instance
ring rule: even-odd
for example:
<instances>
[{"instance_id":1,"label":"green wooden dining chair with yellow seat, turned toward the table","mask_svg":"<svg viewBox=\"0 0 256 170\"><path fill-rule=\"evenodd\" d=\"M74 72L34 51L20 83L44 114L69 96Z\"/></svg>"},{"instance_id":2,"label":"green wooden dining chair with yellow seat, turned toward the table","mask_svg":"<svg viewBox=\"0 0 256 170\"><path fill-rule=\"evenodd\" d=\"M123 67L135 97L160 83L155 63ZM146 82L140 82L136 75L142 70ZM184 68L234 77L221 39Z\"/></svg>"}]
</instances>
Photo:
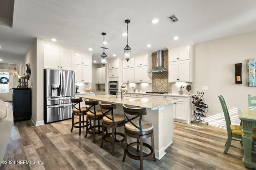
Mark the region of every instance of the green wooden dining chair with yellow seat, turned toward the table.
<instances>
[{"instance_id":1,"label":"green wooden dining chair with yellow seat, turned toward the table","mask_svg":"<svg viewBox=\"0 0 256 170\"><path fill-rule=\"evenodd\" d=\"M230 147L235 147L235 148L238 148L238 149L242 149L240 147L236 147L234 145L231 145L231 141L234 140L234 141L239 141L240 143L242 143L242 135L243 135L243 132L242 132L242 126L239 126L239 125L231 125L231 121L230 121L230 117L229 117L229 113L228 113L228 108L226 106L226 102L223 98L223 96L219 96L219 99L220 99L220 104L222 106L222 109L223 109L223 112L224 112L224 116L225 116L225 120L226 120L226 125L227 125L227 131L228 131L228 139L226 141L226 148L224 150L224 153L227 153L228 152L228 149ZM252 138L253 138L253 147L254 147L254 143L256 142L256 129L253 129L252 131ZM252 150L254 150L254 148L252 148Z\"/></svg>"}]
</instances>

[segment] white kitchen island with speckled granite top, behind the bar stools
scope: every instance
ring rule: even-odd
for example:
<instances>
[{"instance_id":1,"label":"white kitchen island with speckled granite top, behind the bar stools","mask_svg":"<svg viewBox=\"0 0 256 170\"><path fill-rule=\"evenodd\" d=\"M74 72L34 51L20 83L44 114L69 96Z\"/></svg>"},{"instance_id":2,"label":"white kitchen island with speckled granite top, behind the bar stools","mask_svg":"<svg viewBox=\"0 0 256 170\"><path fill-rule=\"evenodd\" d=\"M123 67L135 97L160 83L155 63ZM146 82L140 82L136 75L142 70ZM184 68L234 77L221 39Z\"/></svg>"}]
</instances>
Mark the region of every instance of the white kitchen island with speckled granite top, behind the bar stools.
<instances>
[{"instance_id":1,"label":"white kitchen island with speckled granite top, behind the bar stools","mask_svg":"<svg viewBox=\"0 0 256 170\"><path fill-rule=\"evenodd\" d=\"M147 115L143 116L145 121L150 121L154 125L154 143L155 154L157 159L161 159L165 154L165 149L172 144L173 137L173 104L178 100L164 100L153 98L130 98L125 97L121 99L116 95L99 95L99 96L82 96L80 98L99 100L102 102L115 103L116 109L114 113L123 114L122 104L130 106L145 107ZM97 106L99 109L99 106ZM118 129L121 133L124 133L124 128ZM130 143L131 141L128 141ZM144 142L151 145L150 139L145 139ZM146 151L147 152L147 151Z\"/></svg>"}]
</instances>

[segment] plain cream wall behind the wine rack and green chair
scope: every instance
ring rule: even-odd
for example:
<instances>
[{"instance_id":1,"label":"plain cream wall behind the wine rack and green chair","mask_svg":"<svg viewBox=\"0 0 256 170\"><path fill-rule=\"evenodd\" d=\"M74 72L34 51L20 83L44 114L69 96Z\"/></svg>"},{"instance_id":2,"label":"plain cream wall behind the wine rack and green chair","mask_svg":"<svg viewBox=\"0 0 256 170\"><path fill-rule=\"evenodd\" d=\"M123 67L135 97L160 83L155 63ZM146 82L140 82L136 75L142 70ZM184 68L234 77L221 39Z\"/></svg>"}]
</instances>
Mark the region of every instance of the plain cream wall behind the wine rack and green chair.
<instances>
[{"instance_id":1,"label":"plain cream wall behind the wine rack and green chair","mask_svg":"<svg viewBox=\"0 0 256 170\"><path fill-rule=\"evenodd\" d=\"M256 31L215 39L194 45L193 94L204 90L208 115L222 112L219 95L228 109L248 107L248 94L256 96L256 87L247 86L247 59L256 58ZM242 84L235 84L235 64L242 63Z\"/></svg>"}]
</instances>

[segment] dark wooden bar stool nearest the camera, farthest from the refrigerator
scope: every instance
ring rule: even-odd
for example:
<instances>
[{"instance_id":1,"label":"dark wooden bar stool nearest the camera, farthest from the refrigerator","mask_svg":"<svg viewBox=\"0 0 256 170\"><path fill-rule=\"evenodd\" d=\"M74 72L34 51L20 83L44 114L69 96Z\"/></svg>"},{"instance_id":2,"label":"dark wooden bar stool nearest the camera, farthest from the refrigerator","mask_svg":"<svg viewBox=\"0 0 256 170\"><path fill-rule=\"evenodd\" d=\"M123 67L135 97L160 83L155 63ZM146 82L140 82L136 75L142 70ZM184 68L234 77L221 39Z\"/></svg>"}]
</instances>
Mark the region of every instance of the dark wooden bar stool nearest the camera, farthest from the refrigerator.
<instances>
[{"instance_id":1,"label":"dark wooden bar stool nearest the camera, farthest from the refrigerator","mask_svg":"<svg viewBox=\"0 0 256 170\"><path fill-rule=\"evenodd\" d=\"M146 115L146 108L141 107L128 107L123 105L124 116L126 118L126 122L124 125L124 157L123 162L128 155L130 158L135 160L140 160L140 169L143 169L143 160L150 159L153 156L154 161L156 161L156 156L154 152L154 131L153 124L148 121L142 120L142 115ZM130 115L129 118L128 115ZM139 119L136 119L139 118ZM127 143L127 136L136 138L137 142ZM151 137L151 146L147 143L143 143L143 139ZM129 150L132 146L137 146L137 153L133 154L131 150ZM139 152L140 146L140 152ZM149 154L143 154L143 146L150 149Z\"/></svg>"}]
</instances>

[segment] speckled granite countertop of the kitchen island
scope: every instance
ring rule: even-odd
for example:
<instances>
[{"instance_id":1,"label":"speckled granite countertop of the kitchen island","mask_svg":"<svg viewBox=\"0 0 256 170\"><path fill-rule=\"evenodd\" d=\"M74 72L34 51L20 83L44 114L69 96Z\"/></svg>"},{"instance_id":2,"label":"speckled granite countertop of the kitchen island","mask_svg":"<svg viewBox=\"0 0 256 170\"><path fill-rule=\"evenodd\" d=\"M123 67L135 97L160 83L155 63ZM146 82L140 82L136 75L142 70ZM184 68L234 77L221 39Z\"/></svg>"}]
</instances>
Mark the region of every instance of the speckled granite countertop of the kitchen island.
<instances>
[{"instance_id":1,"label":"speckled granite countertop of the kitchen island","mask_svg":"<svg viewBox=\"0 0 256 170\"><path fill-rule=\"evenodd\" d=\"M152 99L152 98L130 98L125 97L121 99L119 96L116 98L116 95L106 94L98 96L81 96L80 98L100 100L103 102L110 102L115 104L126 104L131 106L146 107L151 110L159 109L160 107L168 106L178 102L178 100L171 99Z\"/></svg>"}]
</instances>

